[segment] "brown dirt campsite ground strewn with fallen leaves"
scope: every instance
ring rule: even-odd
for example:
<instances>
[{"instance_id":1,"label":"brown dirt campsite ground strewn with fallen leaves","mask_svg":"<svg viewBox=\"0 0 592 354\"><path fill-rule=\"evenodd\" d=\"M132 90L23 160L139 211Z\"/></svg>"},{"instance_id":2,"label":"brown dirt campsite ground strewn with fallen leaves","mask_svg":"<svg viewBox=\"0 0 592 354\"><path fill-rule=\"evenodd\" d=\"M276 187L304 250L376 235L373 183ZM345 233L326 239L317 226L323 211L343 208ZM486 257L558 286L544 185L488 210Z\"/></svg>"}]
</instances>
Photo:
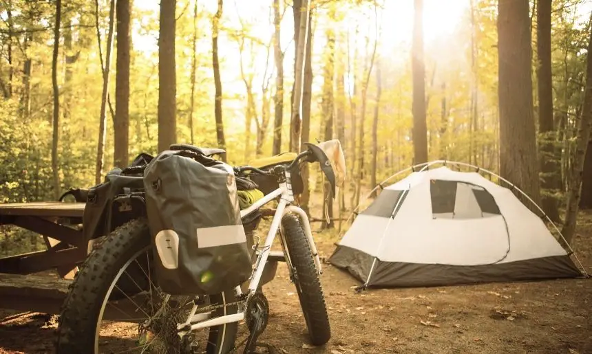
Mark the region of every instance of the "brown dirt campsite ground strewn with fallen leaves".
<instances>
[{"instance_id":1,"label":"brown dirt campsite ground strewn with fallen leaves","mask_svg":"<svg viewBox=\"0 0 592 354\"><path fill-rule=\"evenodd\" d=\"M319 213L320 214L320 213ZM320 223L313 224L313 231ZM322 258L339 237L315 236ZM592 214L582 214L575 250L592 273ZM592 353L592 280L549 280L415 289L370 289L324 263L332 338L308 342L284 263L264 286L270 319L262 342L281 353ZM52 353L56 323L0 311L0 353Z\"/></svg>"}]
</instances>

